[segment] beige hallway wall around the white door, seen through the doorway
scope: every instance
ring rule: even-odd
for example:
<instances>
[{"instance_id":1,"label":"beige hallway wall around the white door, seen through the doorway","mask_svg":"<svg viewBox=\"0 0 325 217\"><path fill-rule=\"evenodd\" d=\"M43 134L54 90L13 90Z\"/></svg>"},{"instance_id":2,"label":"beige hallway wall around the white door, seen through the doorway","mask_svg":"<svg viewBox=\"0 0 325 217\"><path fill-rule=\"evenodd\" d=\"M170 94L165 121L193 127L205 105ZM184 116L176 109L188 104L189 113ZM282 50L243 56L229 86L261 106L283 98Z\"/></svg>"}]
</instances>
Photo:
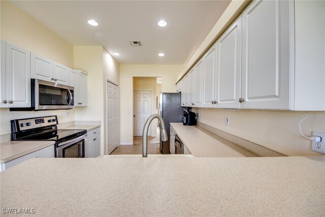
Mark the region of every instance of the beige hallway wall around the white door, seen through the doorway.
<instances>
[{"instance_id":1,"label":"beige hallway wall around the white door, seen through the doorway","mask_svg":"<svg viewBox=\"0 0 325 217\"><path fill-rule=\"evenodd\" d=\"M151 113L156 113L156 97L157 97L157 78L156 77L134 77L133 89L151 90ZM134 99L133 99L134 100ZM151 136L157 136L157 121L154 119L151 124Z\"/></svg>"}]
</instances>

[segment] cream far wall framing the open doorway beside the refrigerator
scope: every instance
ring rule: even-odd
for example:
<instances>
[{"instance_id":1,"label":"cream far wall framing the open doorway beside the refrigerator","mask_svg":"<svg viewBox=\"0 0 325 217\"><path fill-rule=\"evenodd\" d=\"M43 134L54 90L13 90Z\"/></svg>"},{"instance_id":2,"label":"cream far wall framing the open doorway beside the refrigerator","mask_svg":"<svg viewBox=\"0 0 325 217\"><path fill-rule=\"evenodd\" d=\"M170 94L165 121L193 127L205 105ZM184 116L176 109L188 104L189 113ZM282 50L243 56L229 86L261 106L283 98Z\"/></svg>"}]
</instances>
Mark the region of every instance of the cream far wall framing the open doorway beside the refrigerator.
<instances>
[{"instance_id":1,"label":"cream far wall framing the open doorway beside the refrigerator","mask_svg":"<svg viewBox=\"0 0 325 217\"><path fill-rule=\"evenodd\" d=\"M120 65L120 144L133 144L133 77L163 77L162 90L176 92L175 80L182 69L182 65Z\"/></svg>"}]
</instances>

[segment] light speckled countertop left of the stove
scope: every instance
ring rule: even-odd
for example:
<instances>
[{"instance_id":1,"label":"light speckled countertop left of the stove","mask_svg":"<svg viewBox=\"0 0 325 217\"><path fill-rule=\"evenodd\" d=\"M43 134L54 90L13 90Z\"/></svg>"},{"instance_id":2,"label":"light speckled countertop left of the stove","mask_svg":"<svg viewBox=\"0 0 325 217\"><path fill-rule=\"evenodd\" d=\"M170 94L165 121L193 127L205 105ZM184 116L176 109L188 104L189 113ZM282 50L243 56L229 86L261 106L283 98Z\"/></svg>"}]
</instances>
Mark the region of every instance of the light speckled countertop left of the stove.
<instances>
[{"instance_id":1,"label":"light speckled countertop left of the stove","mask_svg":"<svg viewBox=\"0 0 325 217\"><path fill-rule=\"evenodd\" d=\"M0 164L53 145L54 141L9 141L0 144Z\"/></svg>"}]
</instances>

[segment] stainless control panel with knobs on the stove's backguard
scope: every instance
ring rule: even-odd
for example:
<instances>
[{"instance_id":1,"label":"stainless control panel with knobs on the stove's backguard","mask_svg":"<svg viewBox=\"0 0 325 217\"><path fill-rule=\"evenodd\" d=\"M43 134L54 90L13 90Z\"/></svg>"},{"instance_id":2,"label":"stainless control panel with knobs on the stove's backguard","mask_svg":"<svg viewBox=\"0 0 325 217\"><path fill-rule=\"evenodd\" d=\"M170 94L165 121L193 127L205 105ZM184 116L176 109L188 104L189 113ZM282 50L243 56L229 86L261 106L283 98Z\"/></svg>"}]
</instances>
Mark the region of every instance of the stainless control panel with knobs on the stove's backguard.
<instances>
[{"instance_id":1,"label":"stainless control panel with knobs on the stove's backguard","mask_svg":"<svg viewBox=\"0 0 325 217\"><path fill-rule=\"evenodd\" d=\"M23 130L29 130L29 129L39 128L39 127L57 125L57 117L48 116L48 117L21 119L21 120L16 120L16 122L18 122L17 127L19 127L19 130L23 131Z\"/></svg>"}]
</instances>

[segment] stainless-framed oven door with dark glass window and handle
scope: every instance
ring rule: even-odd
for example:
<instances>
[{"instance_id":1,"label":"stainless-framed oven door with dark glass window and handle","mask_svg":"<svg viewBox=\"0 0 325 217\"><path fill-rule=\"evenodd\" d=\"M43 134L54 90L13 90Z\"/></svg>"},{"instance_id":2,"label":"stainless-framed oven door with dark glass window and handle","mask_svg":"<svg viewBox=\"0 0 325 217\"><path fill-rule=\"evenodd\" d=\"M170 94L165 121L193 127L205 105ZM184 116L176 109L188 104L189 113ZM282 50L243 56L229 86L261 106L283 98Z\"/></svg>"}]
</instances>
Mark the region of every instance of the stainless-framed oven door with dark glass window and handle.
<instances>
[{"instance_id":1,"label":"stainless-framed oven door with dark glass window and handle","mask_svg":"<svg viewBox=\"0 0 325 217\"><path fill-rule=\"evenodd\" d=\"M86 136L55 144L55 158L87 158Z\"/></svg>"}]
</instances>

